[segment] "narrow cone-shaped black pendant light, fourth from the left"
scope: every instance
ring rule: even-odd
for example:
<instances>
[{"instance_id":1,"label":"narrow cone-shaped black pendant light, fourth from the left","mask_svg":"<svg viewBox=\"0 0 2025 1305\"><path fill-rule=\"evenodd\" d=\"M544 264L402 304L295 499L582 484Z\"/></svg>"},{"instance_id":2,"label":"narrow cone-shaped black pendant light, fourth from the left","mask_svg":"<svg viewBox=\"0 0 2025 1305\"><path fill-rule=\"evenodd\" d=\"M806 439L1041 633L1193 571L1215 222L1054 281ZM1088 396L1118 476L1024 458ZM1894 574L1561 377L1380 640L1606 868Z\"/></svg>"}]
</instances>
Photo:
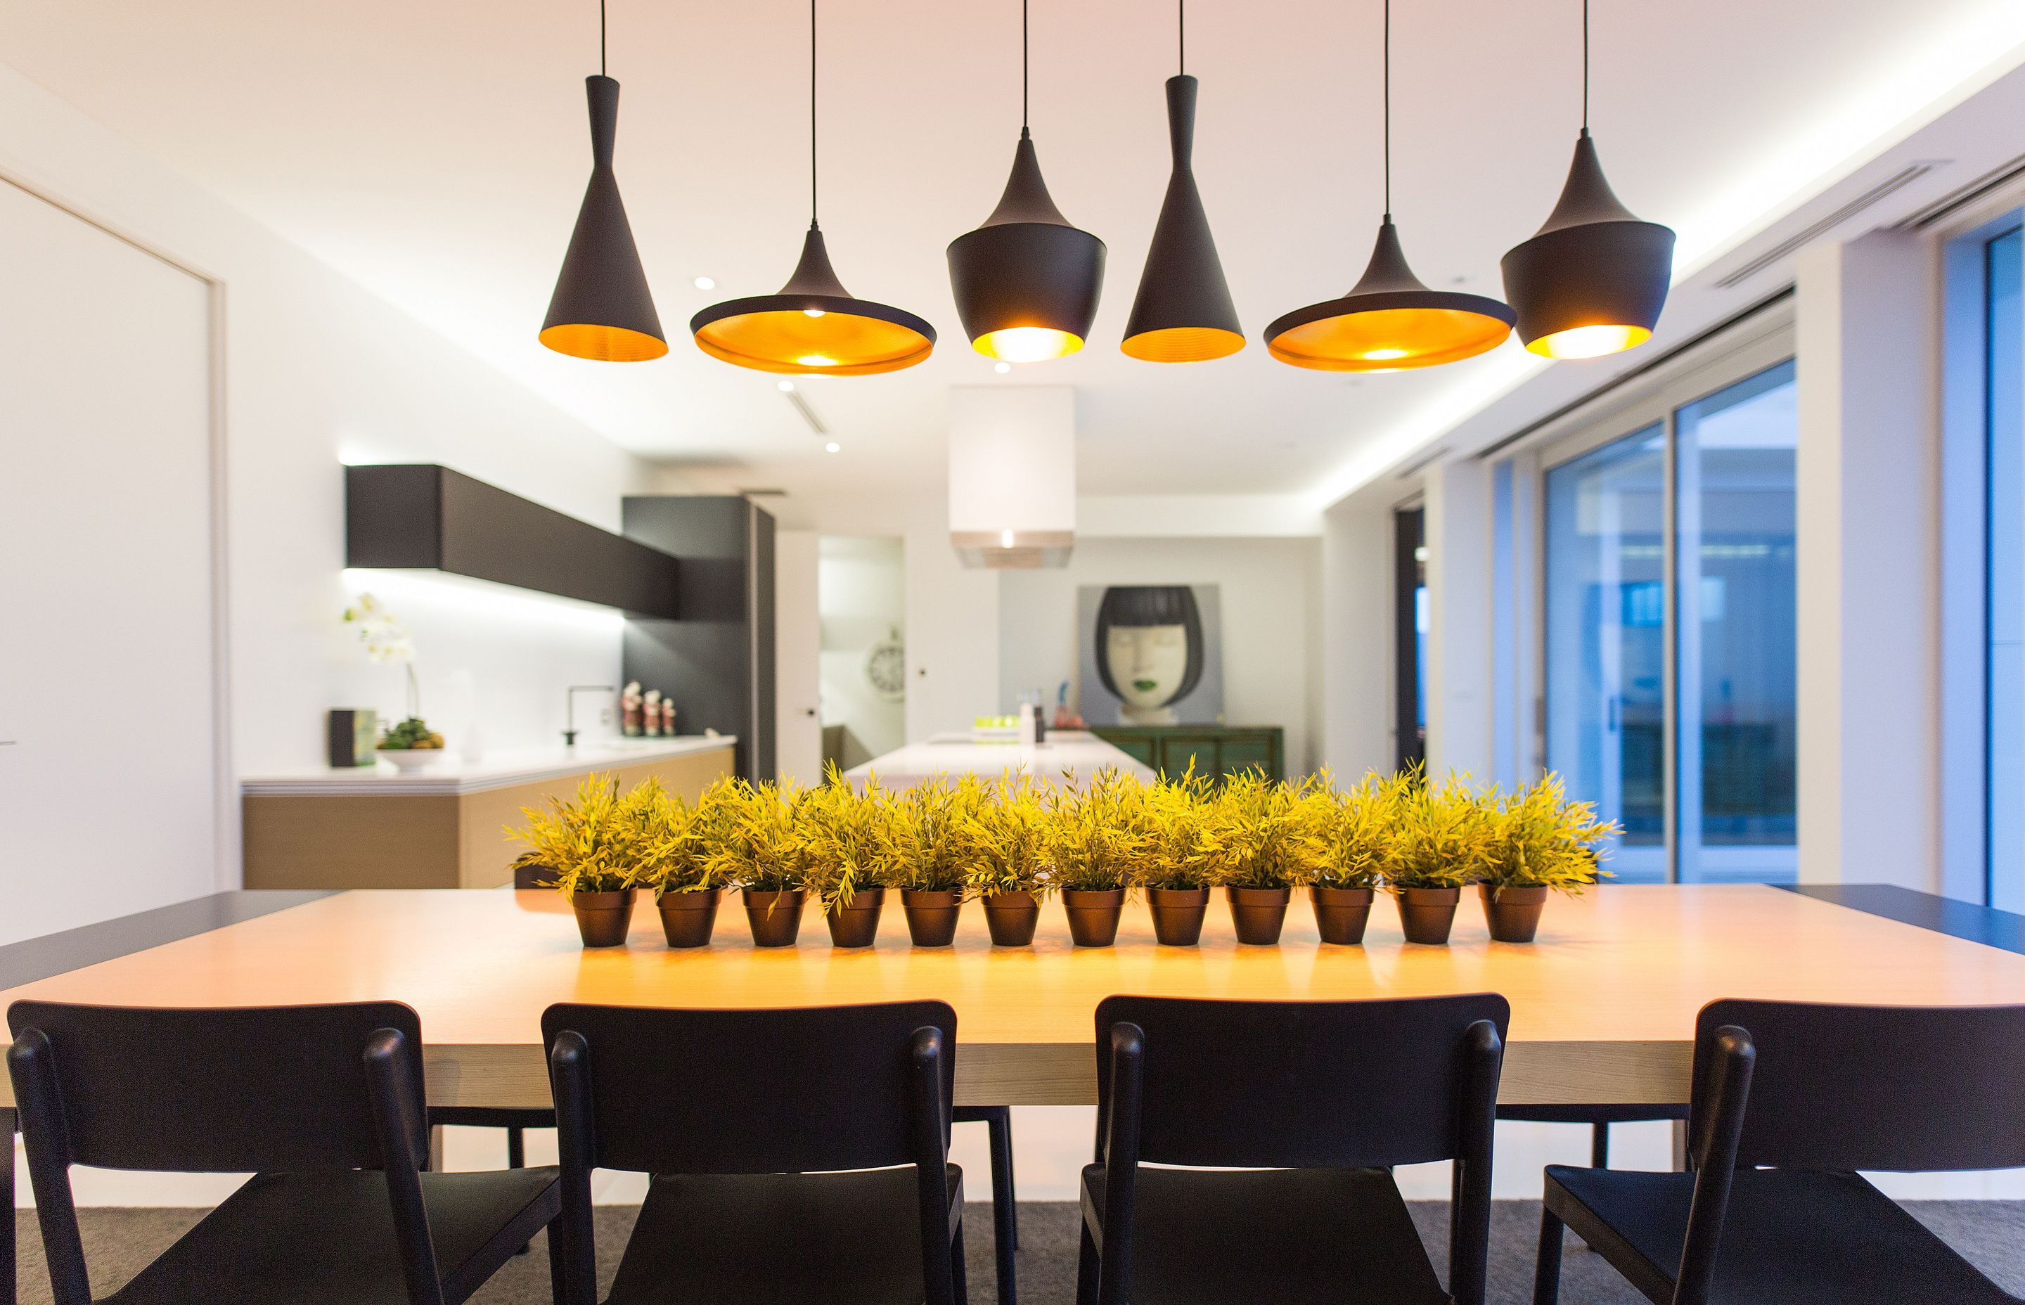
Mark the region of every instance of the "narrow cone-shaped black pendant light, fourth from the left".
<instances>
[{"instance_id":1,"label":"narrow cone-shaped black pendant light, fourth from the left","mask_svg":"<svg viewBox=\"0 0 2025 1305\"><path fill-rule=\"evenodd\" d=\"M1166 136L1174 170L1166 178L1160 221L1146 249L1140 292L1132 300L1124 349L1146 363L1203 363L1245 347L1217 241L1209 235L1203 195L1195 188L1195 77L1189 77L1187 0L1177 0L1181 71L1166 79Z\"/></svg>"}]
</instances>

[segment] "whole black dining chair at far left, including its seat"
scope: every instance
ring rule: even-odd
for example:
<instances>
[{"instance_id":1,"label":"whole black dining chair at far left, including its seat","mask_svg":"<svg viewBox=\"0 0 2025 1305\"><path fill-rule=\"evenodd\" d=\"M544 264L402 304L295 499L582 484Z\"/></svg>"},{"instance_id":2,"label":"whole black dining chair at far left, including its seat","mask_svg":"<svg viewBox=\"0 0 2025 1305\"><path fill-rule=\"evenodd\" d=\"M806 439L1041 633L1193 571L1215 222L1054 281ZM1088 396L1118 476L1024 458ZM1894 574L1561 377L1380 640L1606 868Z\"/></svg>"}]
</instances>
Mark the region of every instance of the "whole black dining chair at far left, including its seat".
<instances>
[{"instance_id":1,"label":"whole black dining chair at far left, including its seat","mask_svg":"<svg viewBox=\"0 0 2025 1305\"><path fill-rule=\"evenodd\" d=\"M561 1208L555 1169L429 1173L405 1005L16 1001L8 1072L57 1305L89 1305L71 1165L245 1173L107 1301L458 1305Z\"/></svg>"}]
</instances>

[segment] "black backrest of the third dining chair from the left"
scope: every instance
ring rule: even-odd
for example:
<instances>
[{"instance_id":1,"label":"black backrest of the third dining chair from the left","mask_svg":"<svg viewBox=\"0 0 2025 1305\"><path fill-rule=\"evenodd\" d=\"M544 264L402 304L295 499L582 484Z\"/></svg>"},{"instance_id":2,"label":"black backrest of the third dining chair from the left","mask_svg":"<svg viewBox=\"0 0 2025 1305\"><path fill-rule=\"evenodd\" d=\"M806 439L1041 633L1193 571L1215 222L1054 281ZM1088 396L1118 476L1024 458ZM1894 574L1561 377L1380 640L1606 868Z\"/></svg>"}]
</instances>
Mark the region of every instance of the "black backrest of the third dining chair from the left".
<instances>
[{"instance_id":1,"label":"black backrest of the third dining chair from the left","mask_svg":"<svg viewBox=\"0 0 2025 1305\"><path fill-rule=\"evenodd\" d=\"M1112 1027L1144 1033L1138 1159L1160 1165L1411 1165L1464 1153L1472 1025L1498 1042L1496 993L1401 1001L1098 1005L1098 1119L1110 1119ZM1490 1070L1496 1094L1496 1068ZM1490 1102L1484 1102L1488 1108ZM1100 1127L1100 1137L1104 1123Z\"/></svg>"}]
</instances>

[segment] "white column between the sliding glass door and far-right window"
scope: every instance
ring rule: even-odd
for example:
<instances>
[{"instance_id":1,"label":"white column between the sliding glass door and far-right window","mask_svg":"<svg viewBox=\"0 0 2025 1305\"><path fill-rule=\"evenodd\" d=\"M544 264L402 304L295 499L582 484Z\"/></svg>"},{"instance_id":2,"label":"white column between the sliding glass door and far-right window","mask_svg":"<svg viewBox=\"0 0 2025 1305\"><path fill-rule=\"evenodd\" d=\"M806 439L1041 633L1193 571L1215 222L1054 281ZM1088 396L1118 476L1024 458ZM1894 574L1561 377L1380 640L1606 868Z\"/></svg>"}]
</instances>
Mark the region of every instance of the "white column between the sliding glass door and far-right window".
<instances>
[{"instance_id":1,"label":"white column between the sliding glass door and far-right window","mask_svg":"<svg viewBox=\"0 0 2025 1305\"><path fill-rule=\"evenodd\" d=\"M1798 255L1800 879L1938 890L1934 265Z\"/></svg>"}]
</instances>

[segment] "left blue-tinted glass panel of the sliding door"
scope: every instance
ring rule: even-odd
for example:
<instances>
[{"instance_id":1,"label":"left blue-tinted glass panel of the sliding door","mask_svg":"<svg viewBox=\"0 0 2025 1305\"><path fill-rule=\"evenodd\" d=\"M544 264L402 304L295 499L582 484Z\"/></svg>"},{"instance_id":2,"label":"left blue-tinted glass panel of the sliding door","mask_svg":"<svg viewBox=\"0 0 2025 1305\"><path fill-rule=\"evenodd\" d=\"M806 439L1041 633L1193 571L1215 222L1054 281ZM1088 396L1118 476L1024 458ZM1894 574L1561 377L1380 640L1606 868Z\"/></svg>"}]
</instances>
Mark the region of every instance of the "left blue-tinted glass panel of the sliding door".
<instances>
[{"instance_id":1,"label":"left blue-tinted glass panel of the sliding door","mask_svg":"<svg viewBox=\"0 0 2025 1305\"><path fill-rule=\"evenodd\" d=\"M1547 768L1624 825L1618 881L1667 877L1665 432L1547 472Z\"/></svg>"}]
</instances>

